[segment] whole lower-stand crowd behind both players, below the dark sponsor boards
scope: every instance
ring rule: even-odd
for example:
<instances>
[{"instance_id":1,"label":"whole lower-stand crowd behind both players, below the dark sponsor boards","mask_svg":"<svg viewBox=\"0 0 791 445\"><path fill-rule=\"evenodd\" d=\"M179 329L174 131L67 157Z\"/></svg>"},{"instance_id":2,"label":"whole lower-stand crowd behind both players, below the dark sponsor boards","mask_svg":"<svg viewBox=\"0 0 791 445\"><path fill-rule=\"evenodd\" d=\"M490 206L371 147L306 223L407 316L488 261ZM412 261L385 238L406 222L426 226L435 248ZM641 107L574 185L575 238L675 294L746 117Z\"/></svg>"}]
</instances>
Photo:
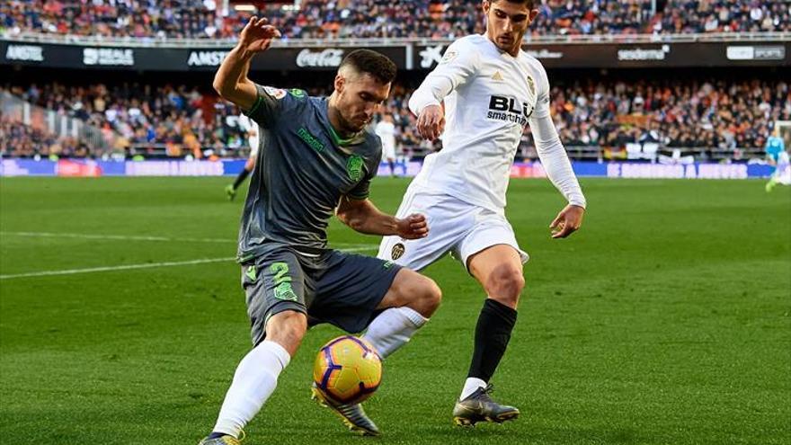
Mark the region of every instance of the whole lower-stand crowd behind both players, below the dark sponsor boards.
<instances>
[{"instance_id":1,"label":"whole lower-stand crowd behind both players, below the dark sponsor boards","mask_svg":"<svg viewBox=\"0 0 791 445\"><path fill-rule=\"evenodd\" d=\"M117 135L112 147L121 150L156 146L164 147L168 156L201 157L208 153L241 156L248 148L236 106L194 87L49 84L6 88L28 102ZM415 119L406 107L411 92L396 85L382 110L393 116L396 143L407 156L440 147L417 137ZM308 93L327 92L314 88ZM567 147L657 142L663 147L760 148L774 121L791 120L789 85L760 79L558 81L552 97L555 124ZM12 136L21 131L4 130ZM30 143L3 147L4 155L49 153L43 147L31 151L36 141L51 145L48 138L19 134ZM529 130L526 145L532 145Z\"/></svg>"}]
</instances>

